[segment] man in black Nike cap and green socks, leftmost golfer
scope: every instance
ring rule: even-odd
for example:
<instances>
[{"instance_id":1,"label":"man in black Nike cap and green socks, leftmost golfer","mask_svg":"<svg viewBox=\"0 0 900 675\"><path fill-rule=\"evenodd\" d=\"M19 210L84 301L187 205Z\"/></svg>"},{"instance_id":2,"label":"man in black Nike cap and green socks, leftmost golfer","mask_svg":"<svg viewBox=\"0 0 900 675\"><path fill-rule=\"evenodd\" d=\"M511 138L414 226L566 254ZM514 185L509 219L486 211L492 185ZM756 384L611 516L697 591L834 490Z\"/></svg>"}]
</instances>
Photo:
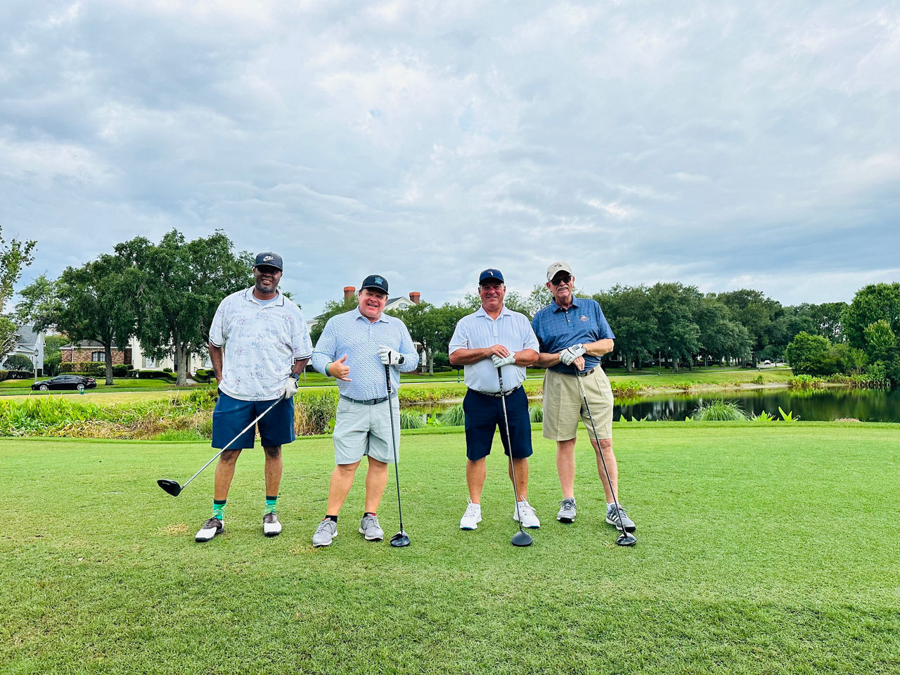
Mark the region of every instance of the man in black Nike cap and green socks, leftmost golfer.
<instances>
[{"instance_id":1,"label":"man in black Nike cap and green socks, leftmost golfer","mask_svg":"<svg viewBox=\"0 0 900 675\"><path fill-rule=\"evenodd\" d=\"M276 253L260 253L253 267L256 284L231 293L216 310L210 327L210 360L219 382L212 411L212 447L225 447L238 432L268 409L257 423L266 452L266 510L263 534L276 536L282 525L275 514L282 476L282 446L294 439L293 395L297 378L312 353L302 311L278 291L284 263ZM194 536L208 542L225 530L223 511L240 451L252 448L256 428L229 446L216 464L212 516Z\"/></svg>"}]
</instances>

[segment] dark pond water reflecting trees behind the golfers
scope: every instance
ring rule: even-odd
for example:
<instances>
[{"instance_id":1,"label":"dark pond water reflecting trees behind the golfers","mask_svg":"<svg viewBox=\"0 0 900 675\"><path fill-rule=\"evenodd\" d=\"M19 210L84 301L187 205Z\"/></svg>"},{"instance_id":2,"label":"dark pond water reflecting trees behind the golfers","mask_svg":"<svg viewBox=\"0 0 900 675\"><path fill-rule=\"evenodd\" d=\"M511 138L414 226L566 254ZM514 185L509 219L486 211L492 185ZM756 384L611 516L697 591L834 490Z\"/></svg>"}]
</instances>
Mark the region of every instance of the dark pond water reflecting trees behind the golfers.
<instances>
[{"instance_id":1,"label":"dark pond water reflecting trees behind the golfers","mask_svg":"<svg viewBox=\"0 0 900 675\"><path fill-rule=\"evenodd\" d=\"M859 419L863 422L900 422L900 390L882 392L860 389L818 389L805 392L788 390L752 390L744 392L715 392L698 394L668 394L648 398L617 401L613 419L625 415L626 419L672 419L681 421L693 415L698 406L709 401L733 401L747 413L759 415L765 410L779 416L779 406L806 421L834 419ZM536 401L532 401L534 405ZM421 410L423 414L439 414L449 406L410 406L408 410Z\"/></svg>"}]
</instances>

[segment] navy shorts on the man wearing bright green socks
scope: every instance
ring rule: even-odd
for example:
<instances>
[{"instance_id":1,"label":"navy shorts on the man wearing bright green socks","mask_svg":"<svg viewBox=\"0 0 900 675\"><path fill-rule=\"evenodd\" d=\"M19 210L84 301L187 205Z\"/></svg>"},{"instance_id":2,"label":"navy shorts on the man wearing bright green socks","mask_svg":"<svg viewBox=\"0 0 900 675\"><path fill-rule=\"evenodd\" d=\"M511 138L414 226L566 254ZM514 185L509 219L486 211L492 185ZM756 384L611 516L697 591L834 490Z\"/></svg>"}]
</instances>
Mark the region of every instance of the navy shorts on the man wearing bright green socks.
<instances>
[{"instance_id":1,"label":"navy shorts on the man wearing bright green socks","mask_svg":"<svg viewBox=\"0 0 900 675\"><path fill-rule=\"evenodd\" d=\"M239 401L228 394L219 392L215 410L212 410L212 447L223 448L238 436L238 432L275 403L272 401ZM293 442L293 399L281 401L270 410L266 417L257 422L259 440L263 447L284 446ZM244 450L253 447L257 433L255 428L247 429L238 440L228 446L229 450Z\"/></svg>"}]
</instances>

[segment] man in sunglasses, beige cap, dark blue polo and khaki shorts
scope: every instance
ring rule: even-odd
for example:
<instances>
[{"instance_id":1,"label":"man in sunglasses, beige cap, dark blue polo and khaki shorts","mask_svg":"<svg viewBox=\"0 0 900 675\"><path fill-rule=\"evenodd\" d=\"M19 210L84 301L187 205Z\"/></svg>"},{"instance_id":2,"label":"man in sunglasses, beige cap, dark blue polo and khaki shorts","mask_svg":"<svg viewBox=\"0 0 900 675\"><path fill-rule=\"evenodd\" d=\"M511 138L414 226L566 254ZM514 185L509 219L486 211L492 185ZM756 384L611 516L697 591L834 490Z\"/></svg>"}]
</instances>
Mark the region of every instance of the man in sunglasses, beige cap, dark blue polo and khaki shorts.
<instances>
[{"instance_id":1,"label":"man in sunglasses, beige cap, dark blue polo and khaki shorts","mask_svg":"<svg viewBox=\"0 0 900 675\"><path fill-rule=\"evenodd\" d=\"M544 437L556 441L556 470L563 488L563 501L556 519L562 523L575 520L575 436L581 418L597 455L597 472L607 498L607 522L620 531L634 532L635 523L622 509L622 502L619 501L616 509L613 500L614 497L618 500L618 468L612 440L613 392L600 367L600 357L613 350L616 336L598 302L575 297L575 275L568 264L556 262L547 267L547 288L554 299L535 314L531 325L540 343L537 365L547 369ZM581 378L590 403L593 425L577 378ZM597 437L593 436L594 428ZM609 481L603 471L603 460L606 460Z\"/></svg>"}]
</instances>

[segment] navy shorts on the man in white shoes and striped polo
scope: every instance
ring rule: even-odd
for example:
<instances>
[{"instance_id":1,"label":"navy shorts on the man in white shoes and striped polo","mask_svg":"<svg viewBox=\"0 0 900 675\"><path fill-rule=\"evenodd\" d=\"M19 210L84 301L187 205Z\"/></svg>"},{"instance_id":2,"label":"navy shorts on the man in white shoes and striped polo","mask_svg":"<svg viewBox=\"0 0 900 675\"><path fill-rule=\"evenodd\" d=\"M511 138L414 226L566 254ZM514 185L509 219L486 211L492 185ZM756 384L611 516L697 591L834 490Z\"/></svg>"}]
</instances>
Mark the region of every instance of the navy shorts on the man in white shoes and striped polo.
<instances>
[{"instance_id":1,"label":"navy shorts on the man in white shoes and striped polo","mask_svg":"<svg viewBox=\"0 0 900 675\"><path fill-rule=\"evenodd\" d=\"M517 459L531 456L531 418L528 417L528 397L524 387L506 397L509 436L512 437L512 456ZM503 450L509 455L509 442L503 424L503 401L470 389L463 399L465 412L465 456L473 462L491 455L494 431L500 427Z\"/></svg>"}]
</instances>

